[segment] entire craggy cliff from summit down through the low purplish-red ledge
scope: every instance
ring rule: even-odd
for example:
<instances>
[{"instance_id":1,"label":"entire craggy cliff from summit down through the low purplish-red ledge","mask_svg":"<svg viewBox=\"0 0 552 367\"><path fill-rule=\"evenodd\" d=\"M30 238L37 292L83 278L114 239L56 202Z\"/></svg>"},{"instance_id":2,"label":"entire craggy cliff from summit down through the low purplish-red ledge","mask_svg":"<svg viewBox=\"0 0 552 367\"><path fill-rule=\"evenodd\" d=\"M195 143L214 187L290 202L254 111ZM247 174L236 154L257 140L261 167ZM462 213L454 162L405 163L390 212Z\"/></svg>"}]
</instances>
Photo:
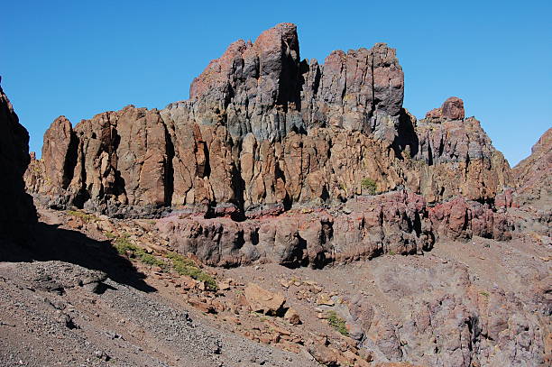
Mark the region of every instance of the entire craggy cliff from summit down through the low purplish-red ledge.
<instances>
[{"instance_id":1,"label":"entire craggy cliff from summit down through the low purplish-red ledge","mask_svg":"<svg viewBox=\"0 0 552 367\"><path fill-rule=\"evenodd\" d=\"M52 208L172 213L161 234L221 266L321 267L419 253L439 235L509 238L492 202L511 170L481 124L457 97L418 122L403 94L395 50L300 60L296 27L282 23L230 45L187 101L75 127L60 116L25 182Z\"/></svg>"}]
</instances>

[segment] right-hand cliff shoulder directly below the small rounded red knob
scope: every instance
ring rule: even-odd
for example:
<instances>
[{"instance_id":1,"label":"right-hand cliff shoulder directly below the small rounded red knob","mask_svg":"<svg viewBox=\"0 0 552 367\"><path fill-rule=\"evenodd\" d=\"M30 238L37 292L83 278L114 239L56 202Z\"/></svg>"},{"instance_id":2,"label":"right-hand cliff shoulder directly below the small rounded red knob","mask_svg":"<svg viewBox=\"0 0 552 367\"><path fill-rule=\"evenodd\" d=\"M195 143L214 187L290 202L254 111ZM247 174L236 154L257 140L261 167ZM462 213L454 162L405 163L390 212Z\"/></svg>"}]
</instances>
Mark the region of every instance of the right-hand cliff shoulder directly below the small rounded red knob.
<instances>
[{"instance_id":1,"label":"right-hand cliff shoulder directly below the small rounded red knob","mask_svg":"<svg viewBox=\"0 0 552 367\"><path fill-rule=\"evenodd\" d=\"M416 126L419 191L429 202L462 196L492 200L511 185L511 169L474 117L426 118Z\"/></svg>"}]
</instances>

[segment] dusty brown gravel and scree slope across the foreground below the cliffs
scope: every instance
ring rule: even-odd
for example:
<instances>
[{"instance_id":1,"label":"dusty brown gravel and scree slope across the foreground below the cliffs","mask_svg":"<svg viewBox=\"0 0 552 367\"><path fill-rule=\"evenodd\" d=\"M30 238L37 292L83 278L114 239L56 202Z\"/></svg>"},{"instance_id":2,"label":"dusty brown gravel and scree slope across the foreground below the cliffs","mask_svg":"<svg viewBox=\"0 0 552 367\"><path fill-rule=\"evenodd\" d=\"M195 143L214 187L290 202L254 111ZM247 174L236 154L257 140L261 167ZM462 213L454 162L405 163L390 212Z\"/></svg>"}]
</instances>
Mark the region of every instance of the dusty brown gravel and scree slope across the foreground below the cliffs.
<instances>
[{"instance_id":1,"label":"dusty brown gravel and scree slope across the foreground below the cliffs","mask_svg":"<svg viewBox=\"0 0 552 367\"><path fill-rule=\"evenodd\" d=\"M125 233L167 261L149 221L40 214L42 251L0 263L0 365L550 362L551 250L534 236L440 241L424 255L323 270L204 268L218 284L209 291L115 252L114 238ZM249 283L282 295L300 324L253 312L244 297ZM346 328L330 325L332 314Z\"/></svg>"}]
</instances>

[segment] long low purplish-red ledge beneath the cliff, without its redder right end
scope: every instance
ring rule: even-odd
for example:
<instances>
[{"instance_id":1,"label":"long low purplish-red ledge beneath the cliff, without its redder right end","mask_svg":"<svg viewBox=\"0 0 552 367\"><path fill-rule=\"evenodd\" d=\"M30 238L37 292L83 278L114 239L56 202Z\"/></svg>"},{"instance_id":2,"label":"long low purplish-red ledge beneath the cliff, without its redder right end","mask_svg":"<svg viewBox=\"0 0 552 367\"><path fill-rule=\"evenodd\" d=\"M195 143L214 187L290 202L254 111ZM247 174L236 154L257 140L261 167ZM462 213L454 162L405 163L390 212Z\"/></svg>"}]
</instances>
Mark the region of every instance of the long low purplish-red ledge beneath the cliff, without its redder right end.
<instances>
[{"instance_id":1,"label":"long low purplish-red ledge beneath the cliff, without its redder right end","mask_svg":"<svg viewBox=\"0 0 552 367\"><path fill-rule=\"evenodd\" d=\"M359 197L340 211L303 208L245 222L182 214L157 227L178 252L225 267L254 261L322 267L388 252L421 253L435 242L425 201L402 191Z\"/></svg>"}]
</instances>

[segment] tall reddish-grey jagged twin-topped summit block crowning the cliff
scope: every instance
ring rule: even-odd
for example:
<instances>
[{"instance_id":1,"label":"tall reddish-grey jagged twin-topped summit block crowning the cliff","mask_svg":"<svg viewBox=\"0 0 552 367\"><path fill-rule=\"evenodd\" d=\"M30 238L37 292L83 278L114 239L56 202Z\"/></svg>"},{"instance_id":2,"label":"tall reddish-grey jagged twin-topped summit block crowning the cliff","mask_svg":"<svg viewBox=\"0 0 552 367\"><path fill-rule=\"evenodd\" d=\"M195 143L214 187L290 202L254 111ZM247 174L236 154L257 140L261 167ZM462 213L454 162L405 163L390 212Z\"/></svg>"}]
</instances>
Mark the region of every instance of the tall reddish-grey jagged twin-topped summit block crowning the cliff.
<instances>
[{"instance_id":1,"label":"tall reddish-grey jagged twin-topped summit block crowning the cliff","mask_svg":"<svg viewBox=\"0 0 552 367\"><path fill-rule=\"evenodd\" d=\"M395 50L336 50L324 65L300 60L297 27L281 23L253 43L236 41L190 87L187 106L202 124L225 124L232 136L281 139L332 125L392 142L404 95ZM191 106L190 106L191 105Z\"/></svg>"}]
</instances>

